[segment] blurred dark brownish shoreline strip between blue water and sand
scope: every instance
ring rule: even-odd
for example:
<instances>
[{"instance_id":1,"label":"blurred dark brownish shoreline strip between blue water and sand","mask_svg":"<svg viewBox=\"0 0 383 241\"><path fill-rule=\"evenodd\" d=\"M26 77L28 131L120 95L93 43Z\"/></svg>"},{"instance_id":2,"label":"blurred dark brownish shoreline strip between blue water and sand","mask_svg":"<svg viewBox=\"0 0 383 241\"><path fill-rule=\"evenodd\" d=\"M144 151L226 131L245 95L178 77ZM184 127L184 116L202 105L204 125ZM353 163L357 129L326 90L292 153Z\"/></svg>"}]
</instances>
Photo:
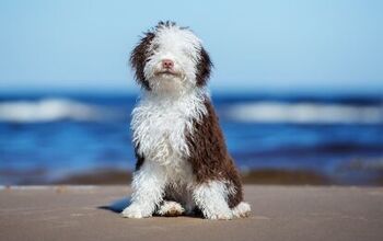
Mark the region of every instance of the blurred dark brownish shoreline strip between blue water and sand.
<instances>
[{"instance_id":1,"label":"blurred dark brownish shoreline strip between blue water and sand","mask_svg":"<svg viewBox=\"0 0 383 241\"><path fill-rule=\"evenodd\" d=\"M383 173L378 172L375 179L368 182L343 182L334 176L313 170L254 169L240 171L244 184L258 185L357 185L382 186ZM131 170L98 168L85 171L69 172L59 177L48 179L42 170L14 172L2 170L3 179L16 181L2 185L127 185L131 182Z\"/></svg>"}]
</instances>

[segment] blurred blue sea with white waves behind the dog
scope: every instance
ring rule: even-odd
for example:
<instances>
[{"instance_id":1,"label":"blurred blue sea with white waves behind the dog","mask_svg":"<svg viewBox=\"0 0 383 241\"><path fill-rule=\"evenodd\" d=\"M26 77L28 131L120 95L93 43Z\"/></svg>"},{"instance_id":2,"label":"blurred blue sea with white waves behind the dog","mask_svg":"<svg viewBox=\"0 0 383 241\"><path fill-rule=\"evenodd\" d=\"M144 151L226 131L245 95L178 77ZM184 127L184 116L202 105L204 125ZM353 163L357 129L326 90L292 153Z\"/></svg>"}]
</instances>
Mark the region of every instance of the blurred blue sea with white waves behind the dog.
<instances>
[{"instance_id":1,"label":"blurred blue sea with white waves behind the dog","mask_svg":"<svg viewBox=\"0 0 383 241\"><path fill-rule=\"evenodd\" d=\"M95 169L132 170L134 95L0 96L0 183L54 181ZM383 176L380 96L213 95L243 170L309 170L338 183Z\"/></svg>"}]
</instances>

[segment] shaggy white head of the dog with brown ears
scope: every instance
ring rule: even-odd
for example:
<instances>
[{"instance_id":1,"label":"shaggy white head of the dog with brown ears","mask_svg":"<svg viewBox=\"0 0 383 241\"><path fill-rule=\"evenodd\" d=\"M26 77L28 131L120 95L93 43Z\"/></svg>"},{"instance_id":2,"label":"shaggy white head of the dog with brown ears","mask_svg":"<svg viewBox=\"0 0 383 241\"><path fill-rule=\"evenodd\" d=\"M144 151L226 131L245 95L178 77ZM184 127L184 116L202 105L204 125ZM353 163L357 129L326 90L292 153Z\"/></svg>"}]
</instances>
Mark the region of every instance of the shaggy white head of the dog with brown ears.
<instances>
[{"instance_id":1,"label":"shaggy white head of the dog with brown ears","mask_svg":"<svg viewBox=\"0 0 383 241\"><path fill-rule=\"evenodd\" d=\"M206 84L211 61L188 28L160 22L146 33L130 56L136 79L148 91L181 92Z\"/></svg>"}]
</instances>

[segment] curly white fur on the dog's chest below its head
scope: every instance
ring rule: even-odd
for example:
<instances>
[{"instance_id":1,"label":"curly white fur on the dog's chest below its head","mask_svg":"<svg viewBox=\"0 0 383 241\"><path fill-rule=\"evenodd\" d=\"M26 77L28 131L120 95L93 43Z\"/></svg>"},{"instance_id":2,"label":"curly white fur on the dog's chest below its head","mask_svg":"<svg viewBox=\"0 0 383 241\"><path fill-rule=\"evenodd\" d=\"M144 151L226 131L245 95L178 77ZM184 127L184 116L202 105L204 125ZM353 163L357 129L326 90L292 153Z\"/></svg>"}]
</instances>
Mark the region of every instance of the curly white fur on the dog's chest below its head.
<instances>
[{"instance_id":1,"label":"curly white fur on the dog's chest below its head","mask_svg":"<svg viewBox=\"0 0 383 241\"><path fill-rule=\"evenodd\" d=\"M134 142L146 161L182 169L183 160L189 156L186 135L193 134L193 123L206 115L206 97L200 89L181 96L146 93L131 120Z\"/></svg>"}]
</instances>

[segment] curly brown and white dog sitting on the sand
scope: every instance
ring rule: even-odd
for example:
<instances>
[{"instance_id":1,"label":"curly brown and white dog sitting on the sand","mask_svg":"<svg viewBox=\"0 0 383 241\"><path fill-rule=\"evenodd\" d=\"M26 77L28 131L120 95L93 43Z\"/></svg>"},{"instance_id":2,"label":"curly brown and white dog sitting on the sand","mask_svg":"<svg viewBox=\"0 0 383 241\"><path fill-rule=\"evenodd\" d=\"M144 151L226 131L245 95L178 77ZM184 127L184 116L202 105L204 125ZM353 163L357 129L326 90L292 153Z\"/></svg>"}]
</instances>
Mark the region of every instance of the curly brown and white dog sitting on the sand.
<instances>
[{"instance_id":1,"label":"curly brown and white dog sitting on the sand","mask_svg":"<svg viewBox=\"0 0 383 241\"><path fill-rule=\"evenodd\" d=\"M160 22L134 48L130 64L141 96L131 119L131 204L123 217L248 216L206 88L212 62L201 41L188 27Z\"/></svg>"}]
</instances>

